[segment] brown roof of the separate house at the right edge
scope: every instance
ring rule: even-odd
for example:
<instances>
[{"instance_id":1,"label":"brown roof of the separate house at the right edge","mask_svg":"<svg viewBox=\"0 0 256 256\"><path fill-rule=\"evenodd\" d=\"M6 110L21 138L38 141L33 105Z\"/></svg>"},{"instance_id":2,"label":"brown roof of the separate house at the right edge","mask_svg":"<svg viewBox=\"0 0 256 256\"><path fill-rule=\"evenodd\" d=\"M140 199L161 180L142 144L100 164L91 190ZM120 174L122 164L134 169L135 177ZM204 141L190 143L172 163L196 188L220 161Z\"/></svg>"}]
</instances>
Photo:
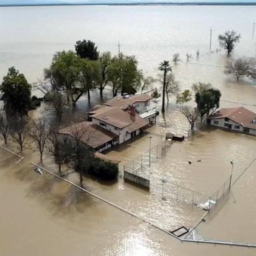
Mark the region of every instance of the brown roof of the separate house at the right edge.
<instances>
[{"instance_id":1,"label":"brown roof of the separate house at the right edge","mask_svg":"<svg viewBox=\"0 0 256 256\"><path fill-rule=\"evenodd\" d=\"M220 109L209 119L219 119L219 118L229 118L231 121L242 125L243 127L256 129L256 125L251 123L254 119L256 119L256 113L245 109L245 107L231 107L227 109Z\"/></svg>"}]
</instances>

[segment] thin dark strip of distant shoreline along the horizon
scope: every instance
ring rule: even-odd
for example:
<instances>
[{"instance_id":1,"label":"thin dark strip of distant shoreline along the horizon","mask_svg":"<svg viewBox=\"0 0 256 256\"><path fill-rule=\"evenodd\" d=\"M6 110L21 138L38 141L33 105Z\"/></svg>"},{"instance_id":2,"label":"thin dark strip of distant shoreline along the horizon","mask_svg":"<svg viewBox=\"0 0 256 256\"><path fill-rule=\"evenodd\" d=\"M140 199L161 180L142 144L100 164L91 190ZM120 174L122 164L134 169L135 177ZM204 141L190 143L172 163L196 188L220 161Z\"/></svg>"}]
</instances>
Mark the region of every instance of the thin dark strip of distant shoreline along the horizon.
<instances>
[{"instance_id":1,"label":"thin dark strip of distant shoreline along the horizon","mask_svg":"<svg viewBox=\"0 0 256 256\"><path fill-rule=\"evenodd\" d=\"M161 2L161 3L39 3L39 4L13 4L13 5L1 5L0 7L29 7L29 6L76 6L76 5L256 5L254 3L223 3L223 2L215 2L215 3L196 3L196 2L187 2L187 3L168 3L168 2Z\"/></svg>"}]
</instances>

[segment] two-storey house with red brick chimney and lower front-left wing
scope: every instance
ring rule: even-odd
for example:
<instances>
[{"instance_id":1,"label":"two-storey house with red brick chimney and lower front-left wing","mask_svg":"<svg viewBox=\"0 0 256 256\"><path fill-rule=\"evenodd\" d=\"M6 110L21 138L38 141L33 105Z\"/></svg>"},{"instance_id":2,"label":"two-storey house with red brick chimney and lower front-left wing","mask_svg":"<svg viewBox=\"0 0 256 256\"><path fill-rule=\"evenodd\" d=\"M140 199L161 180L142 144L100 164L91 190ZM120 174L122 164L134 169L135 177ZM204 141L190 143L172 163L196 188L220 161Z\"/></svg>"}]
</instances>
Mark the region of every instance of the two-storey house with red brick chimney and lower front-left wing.
<instances>
[{"instance_id":1,"label":"two-storey house with red brick chimney and lower front-left wing","mask_svg":"<svg viewBox=\"0 0 256 256\"><path fill-rule=\"evenodd\" d=\"M136 107L103 106L89 113L89 121L61 129L63 139L74 138L74 131L83 133L79 139L95 151L102 152L137 135L149 125L149 121L136 113Z\"/></svg>"}]
</instances>

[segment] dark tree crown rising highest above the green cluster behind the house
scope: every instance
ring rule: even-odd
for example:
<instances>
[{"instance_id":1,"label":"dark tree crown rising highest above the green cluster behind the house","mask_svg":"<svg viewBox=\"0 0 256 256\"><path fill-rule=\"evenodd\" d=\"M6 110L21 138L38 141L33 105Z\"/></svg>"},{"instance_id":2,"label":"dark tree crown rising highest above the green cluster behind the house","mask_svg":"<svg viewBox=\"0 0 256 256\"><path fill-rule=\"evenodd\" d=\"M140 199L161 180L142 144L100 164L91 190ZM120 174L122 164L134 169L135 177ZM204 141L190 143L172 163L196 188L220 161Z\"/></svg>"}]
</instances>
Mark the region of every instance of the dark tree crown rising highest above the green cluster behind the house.
<instances>
[{"instance_id":1,"label":"dark tree crown rising highest above the green cluster behind the house","mask_svg":"<svg viewBox=\"0 0 256 256\"><path fill-rule=\"evenodd\" d=\"M75 51L82 59L88 58L91 61L97 61L99 58L97 46L95 46L95 43L90 40L77 41Z\"/></svg>"}]
</instances>

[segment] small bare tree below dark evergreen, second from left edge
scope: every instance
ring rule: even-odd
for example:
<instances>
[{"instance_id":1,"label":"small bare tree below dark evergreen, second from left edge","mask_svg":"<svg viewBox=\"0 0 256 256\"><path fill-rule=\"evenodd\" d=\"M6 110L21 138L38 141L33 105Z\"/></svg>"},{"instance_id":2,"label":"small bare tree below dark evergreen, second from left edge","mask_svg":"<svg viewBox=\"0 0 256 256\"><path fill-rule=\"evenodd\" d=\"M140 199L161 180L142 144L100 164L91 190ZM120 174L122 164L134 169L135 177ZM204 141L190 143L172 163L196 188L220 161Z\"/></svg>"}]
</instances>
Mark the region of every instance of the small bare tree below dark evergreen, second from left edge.
<instances>
[{"instance_id":1,"label":"small bare tree below dark evergreen, second from left edge","mask_svg":"<svg viewBox=\"0 0 256 256\"><path fill-rule=\"evenodd\" d=\"M27 121L24 118L17 119L13 117L10 119L10 127L11 140L19 144L21 151L23 151L23 144L28 135Z\"/></svg>"}]
</instances>

